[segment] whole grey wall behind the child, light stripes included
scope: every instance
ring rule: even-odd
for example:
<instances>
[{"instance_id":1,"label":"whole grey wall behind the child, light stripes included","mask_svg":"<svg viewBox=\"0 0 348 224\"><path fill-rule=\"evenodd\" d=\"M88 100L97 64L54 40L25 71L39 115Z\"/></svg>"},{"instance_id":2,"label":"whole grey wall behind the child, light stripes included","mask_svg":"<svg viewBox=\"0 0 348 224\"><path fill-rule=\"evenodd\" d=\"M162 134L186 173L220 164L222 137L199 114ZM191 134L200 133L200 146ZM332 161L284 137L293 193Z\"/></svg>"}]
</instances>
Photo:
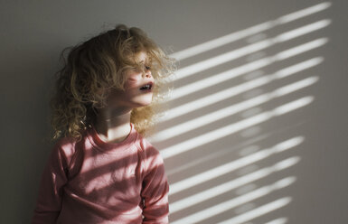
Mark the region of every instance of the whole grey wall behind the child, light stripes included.
<instances>
[{"instance_id":1,"label":"whole grey wall behind the child, light stripes included","mask_svg":"<svg viewBox=\"0 0 348 224\"><path fill-rule=\"evenodd\" d=\"M1 1L0 222L32 216L52 147L48 100L60 51L115 23L141 27L176 53L220 43L180 60L174 87L226 79L171 100L193 110L168 112L151 138L165 157L172 222L347 222L347 8L344 0ZM219 56L226 61L202 67ZM230 110L212 114L222 109ZM207 124L187 123L202 116ZM178 124L187 126L158 138ZM193 196L201 201L183 201Z\"/></svg>"}]
</instances>

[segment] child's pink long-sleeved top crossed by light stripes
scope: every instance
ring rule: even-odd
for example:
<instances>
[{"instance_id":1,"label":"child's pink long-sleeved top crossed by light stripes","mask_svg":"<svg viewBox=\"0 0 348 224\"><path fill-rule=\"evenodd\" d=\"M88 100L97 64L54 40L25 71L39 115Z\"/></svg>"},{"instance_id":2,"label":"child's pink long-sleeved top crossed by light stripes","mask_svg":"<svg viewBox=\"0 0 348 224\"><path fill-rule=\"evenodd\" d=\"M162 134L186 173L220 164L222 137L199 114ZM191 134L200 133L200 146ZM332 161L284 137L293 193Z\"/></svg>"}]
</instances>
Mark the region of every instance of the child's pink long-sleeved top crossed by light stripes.
<instances>
[{"instance_id":1,"label":"child's pink long-sleeved top crossed by light stripes","mask_svg":"<svg viewBox=\"0 0 348 224\"><path fill-rule=\"evenodd\" d=\"M162 157L133 124L118 144L90 128L54 146L32 223L168 223L168 190Z\"/></svg>"}]
</instances>

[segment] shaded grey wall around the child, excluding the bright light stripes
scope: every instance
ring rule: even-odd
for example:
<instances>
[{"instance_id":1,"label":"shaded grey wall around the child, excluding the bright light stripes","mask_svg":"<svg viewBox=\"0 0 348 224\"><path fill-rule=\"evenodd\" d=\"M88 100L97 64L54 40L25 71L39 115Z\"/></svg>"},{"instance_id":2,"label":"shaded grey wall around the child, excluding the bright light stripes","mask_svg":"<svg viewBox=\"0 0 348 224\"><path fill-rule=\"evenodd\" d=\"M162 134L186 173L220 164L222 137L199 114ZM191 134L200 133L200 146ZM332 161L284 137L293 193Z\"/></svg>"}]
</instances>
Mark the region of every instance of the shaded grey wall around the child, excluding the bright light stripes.
<instances>
[{"instance_id":1,"label":"shaded grey wall around the child, excluding the bright light stripes","mask_svg":"<svg viewBox=\"0 0 348 224\"><path fill-rule=\"evenodd\" d=\"M347 44L348 17L345 0L323 1L5 1L0 2L0 74L1 74L1 223L28 223L33 215L38 183L44 163L52 144L49 141L48 101L52 89L53 74L59 69L59 54L64 47L85 41L105 28L117 23L142 28L166 51L182 51L202 42L236 33L277 20L299 10L331 3L331 6L296 21L279 24L262 33L255 33L238 41L205 51L179 61L178 69L208 60L228 51L277 36L306 24L321 20L331 23L325 27L272 45L228 61L209 70L174 83L175 88L211 77L225 70L238 68L245 63L277 54L306 42L327 38L328 42L310 51L277 61L262 69L246 72L203 89L196 94L171 103L178 107L197 98L213 95L223 89L238 87L252 79L274 74L289 66L320 57L324 59L313 68L301 70L284 79L277 79L255 89L248 89L236 96L226 98L210 106L202 107L182 117L177 117L158 126L158 131L181 124L224 107L238 104L263 93L272 92L302 79L315 79L306 88L297 89L281 98L273 98L258 107L250 107L224 117L209 125L177 135L153 144L164 152L165 148L178 145L197 136L213 132L223 126L239 124L248 117L286 105L301 98L310 98L303 107L298 107L281 116L269 117L252 126L238 129L200 146L193 146L183 154L165 159L168 178L175 182L186 180L198 173L213 170L225 163L238 161L244 156L271 148L288 139L301 139L298 145L279 154L249 163L238 169L171 195L171 203L201 191L206 191L224 182L240 180L240 177L257 172L272 164L296 158L297 162L287 169L240 185L212 199L201 201L171 215L171 220L180 220L200 210L213 208L224 201L238 199L243 194L269 186L283 178L291 177L290 185L270 191L251 201L238 202L236 206L221 211L199 223L216 223L241 217L240 222L266 223L284 220L287 223L346 223L348 221L348 118L347 118ZM314 77L314 78L313 78ZM181 168L181 169L179 169ZM178 170L179 169L179 170ZM176 173L175 173L176 171ZM277 201L290 201L274 210L252 217L253 211ZM207 213L209 214L208 211ZM249 217L249 218L248 218ZM236 219L234 219L236 221ZM183 222L184 223L184 222ZM278 222L280 223L280 222ZM284 223L284 222L281 222Z\"/></svg>"}]
</instances>

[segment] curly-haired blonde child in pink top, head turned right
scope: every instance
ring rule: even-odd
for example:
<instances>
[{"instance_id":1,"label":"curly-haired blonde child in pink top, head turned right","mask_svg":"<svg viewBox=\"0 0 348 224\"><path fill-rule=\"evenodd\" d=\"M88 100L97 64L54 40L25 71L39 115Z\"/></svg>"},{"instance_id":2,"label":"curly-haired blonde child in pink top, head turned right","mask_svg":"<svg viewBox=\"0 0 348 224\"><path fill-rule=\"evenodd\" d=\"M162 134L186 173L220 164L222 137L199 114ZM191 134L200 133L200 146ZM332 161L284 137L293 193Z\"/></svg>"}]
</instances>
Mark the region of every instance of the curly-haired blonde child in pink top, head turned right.
<instances>
[{"instance_id":1,"label":"curly-haired blonde child in pink top, head turned right","mask_svg":"<svg viewBox=\"0 0 348 224\"><path fill-rule=\"evenodd\" d=\"M125 25L69 49L33 223L168 223L163 159L142 135L174 61Z\"/></svg>"}]
</instances>

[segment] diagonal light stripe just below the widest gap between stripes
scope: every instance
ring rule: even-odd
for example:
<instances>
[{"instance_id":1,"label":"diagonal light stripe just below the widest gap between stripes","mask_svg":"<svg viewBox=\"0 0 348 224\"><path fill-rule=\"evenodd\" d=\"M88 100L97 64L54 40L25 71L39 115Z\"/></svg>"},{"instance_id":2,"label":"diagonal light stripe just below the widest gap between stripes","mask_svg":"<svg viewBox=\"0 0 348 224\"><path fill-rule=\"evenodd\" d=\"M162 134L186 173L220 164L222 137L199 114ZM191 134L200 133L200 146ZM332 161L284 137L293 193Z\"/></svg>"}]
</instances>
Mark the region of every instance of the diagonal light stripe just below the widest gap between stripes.
<instances>
[{"instance_id":1,"label":"diagonal light stripe just below the widest gap between stripes","mask_svg":"<svg viewBox=\"0 0 348 224\"><path fill-rule=\"evenodd\" d=\"M215 167L209 171L198 173L192 177L186 178L183 181L174 182L171 184L169 195L173 195L179 191L183 191L202 182L207 182L223 174L230 173L239 169L240 167L258 162L260 160L268 158L272 154L277 154L287 149L296 147L297 145L300 145L303 141L304 137L297 136L283 143L275 145L269 149L264 149L262 151L259 151L258 153L250 154L230 163L221 164L220 166Z\"/></svg>"}]
</instances>

